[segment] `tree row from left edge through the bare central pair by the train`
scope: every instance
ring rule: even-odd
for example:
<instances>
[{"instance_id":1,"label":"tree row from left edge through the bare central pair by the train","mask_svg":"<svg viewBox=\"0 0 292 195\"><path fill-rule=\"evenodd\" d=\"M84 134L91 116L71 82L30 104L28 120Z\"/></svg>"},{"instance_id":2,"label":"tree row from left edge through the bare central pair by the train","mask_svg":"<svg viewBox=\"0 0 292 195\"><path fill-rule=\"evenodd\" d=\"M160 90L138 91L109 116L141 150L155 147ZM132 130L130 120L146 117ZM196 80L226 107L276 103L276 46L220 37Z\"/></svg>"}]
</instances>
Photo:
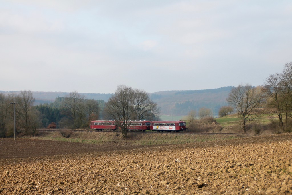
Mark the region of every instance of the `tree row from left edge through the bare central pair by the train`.
<instances>
[{"instance_id":1,"label":"tree row from left edge through the bare central pair by the train","mask_svg":"<svg viewBox=\"0 0 292 195\"><path fill-rule=\"evenodd\" d=\"M144 90L120 85L107 103L103 100L86 99L77 91L54 102L34 106L31 91L20 94L0 93L0 137L13 135L15 103L16 133L34 136L39 128L83 129L92 120L115 120L127 137L131 120L157 119L159 109Z\"/></svg>"}]
</instances>

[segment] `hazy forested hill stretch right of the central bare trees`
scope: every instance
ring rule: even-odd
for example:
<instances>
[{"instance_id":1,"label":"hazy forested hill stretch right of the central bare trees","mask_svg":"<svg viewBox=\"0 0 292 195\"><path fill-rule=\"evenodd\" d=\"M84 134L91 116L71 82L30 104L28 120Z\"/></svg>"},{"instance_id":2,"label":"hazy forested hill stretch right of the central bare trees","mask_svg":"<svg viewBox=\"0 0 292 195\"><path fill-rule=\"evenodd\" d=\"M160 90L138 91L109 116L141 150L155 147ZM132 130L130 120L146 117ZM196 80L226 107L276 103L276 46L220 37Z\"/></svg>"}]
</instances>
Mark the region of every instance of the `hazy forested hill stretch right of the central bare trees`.
<instances>
[{"instance_id":1,"label":"hazy forested hill stretch right of the central bare trees","mask_svg":"<svg viewBox=\"0 0 292 195\"><path fill-rule=\"evenodd\" d=\"M227 106L226 98L232 86L217 89L162 91L151 94L151 99L161 109L161 114L187 115L191 110L199 111L206 107L218 115L221 106Z\"/></svg>"}]
</instances>

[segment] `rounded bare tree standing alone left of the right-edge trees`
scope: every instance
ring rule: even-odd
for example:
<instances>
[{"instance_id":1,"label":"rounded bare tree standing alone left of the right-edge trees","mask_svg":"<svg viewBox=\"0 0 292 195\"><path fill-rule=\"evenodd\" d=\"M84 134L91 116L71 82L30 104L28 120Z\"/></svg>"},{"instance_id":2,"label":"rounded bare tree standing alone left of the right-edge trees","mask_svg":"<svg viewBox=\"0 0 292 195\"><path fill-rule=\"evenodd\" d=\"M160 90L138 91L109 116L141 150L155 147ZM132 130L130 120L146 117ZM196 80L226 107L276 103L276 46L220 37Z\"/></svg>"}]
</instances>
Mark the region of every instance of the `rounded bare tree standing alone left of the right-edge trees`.
<instances>
[{"instance_id":1,"label":"rounded bare tree standing alone left of the right-edge trees","mask_svg":"<svg viewBox=\"0 0 292 195\"><path fill-rule=\"evenodd\" d=\"M227 101L234 106L242 120L242 128L246 132L246 122L253 121L260 115L260 108L264 100L263 94L256 87L249 84L231 89Z\"/></svg>"}]
</instances>

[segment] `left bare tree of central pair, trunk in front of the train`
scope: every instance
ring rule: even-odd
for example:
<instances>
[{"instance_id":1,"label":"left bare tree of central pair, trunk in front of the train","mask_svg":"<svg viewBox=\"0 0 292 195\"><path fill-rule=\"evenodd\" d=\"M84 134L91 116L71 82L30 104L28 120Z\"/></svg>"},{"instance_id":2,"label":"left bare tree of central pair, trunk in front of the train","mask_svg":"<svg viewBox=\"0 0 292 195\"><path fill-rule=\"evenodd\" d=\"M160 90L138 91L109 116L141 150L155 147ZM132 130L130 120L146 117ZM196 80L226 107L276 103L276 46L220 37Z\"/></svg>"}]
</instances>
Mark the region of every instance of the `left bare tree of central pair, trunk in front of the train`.
<instances>
[{"instance_id":1,"label":"left bare tree of central pair, trunk in front of the train","mask_svg":"<svg viewBox=\"0 0 292 195\"><path fill-rule=\"evenodd\" d=\"M126 85L119 85L115 94L109 98L105 105L105 113L109 120L115 120L118 127L121 128L122 135L128 138L128 128L130 125L131 106L134 90Z\"/></svg>"}]
</instances>

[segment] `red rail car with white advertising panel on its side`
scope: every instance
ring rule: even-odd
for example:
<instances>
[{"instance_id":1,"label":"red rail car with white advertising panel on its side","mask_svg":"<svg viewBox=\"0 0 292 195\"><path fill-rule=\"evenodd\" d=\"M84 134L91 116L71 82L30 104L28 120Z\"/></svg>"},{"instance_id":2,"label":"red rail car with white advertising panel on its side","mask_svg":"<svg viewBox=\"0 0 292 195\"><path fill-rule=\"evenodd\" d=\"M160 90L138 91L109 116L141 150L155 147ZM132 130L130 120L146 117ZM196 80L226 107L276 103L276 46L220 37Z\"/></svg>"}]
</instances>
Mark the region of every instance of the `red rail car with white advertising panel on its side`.
<instances>
[{"instance_id":1,"label":"red rail car with white advertising panel on its side","mask_svg":"<svg viewBox=\"0 0 292 195\"><path fill-rule=\"evenodd\" d=\"M152 131L185 131L187 130L186 123L184 121L151 121L150 130Z\"/></svg>"}]
</instances>

